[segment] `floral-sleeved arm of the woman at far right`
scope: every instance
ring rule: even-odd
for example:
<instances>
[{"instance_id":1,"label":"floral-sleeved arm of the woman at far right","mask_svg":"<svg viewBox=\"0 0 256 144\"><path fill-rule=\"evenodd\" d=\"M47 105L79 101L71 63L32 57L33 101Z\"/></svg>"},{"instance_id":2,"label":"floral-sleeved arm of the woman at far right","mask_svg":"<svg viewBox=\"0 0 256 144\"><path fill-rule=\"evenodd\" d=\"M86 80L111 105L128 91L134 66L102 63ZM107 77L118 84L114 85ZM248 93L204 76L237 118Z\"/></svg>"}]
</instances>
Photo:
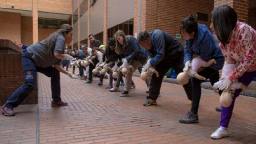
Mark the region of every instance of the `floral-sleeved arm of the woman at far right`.
<instances>
[{"instance_id":1,"label":"floral-sleeved arm of the woman at far right","mask_svg":"<svg viewBox=\"0 0 256 144\"><path fill-rule=\"evenodd\" d=\"M244 74L253 64L254 57L256 56L255 50L255 39L253 38L253 33L249 30L247 26L244 26L238 32L239 34L239 44L242 47L243 58L238 65L228 76L228 78L234 82L240 76Z\"/></svg>"}]
</instances>

